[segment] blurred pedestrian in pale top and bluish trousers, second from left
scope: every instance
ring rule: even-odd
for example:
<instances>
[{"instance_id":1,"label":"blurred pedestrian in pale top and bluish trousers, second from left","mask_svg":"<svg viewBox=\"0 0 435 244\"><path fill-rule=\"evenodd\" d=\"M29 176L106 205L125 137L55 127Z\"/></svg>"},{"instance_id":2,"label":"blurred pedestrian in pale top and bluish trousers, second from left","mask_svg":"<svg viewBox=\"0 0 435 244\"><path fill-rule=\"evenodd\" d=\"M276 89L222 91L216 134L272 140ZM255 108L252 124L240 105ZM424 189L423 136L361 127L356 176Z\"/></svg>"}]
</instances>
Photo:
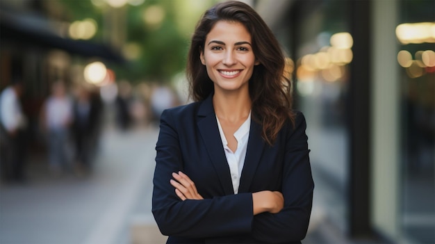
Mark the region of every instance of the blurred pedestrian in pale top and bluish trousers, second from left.
<instances>
[{"instance_id":1,"label":"blurred pedestrian in pale top and bluish trousers, second from left","mask_svg":"<svg viewBox=\"0 0 435 244\"><path fill-rule=\"evenodd\" d=\"M72 101L63 81L51 85L51 95L42 107L42 124L48 136L49 167L53 174L70 168L69 126L73 120Z\"/></svg>"}]
</instances>

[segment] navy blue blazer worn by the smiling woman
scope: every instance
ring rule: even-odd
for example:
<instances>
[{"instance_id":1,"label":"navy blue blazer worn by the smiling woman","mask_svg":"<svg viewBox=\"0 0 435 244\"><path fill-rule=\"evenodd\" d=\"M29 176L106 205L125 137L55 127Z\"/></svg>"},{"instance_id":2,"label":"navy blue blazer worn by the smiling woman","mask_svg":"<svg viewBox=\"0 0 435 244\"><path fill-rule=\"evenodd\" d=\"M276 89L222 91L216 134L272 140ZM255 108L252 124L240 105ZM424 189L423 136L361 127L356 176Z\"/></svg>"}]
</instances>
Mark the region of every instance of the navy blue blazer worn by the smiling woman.
<instances>
[{"instance_id":1,"label":"navy blue blazer worn by the smiling woman","mask_svg":"<svg viewBox=\"0 0 435 244\"><path fill-rule=\"evenodd\" d=\"M271 147L251 122L238 194L233 193L212 96L161 115L152 213L167 243L300 243L309 225L313 178L304 115ZM170 184L181 170L204 200L181 201ZM284 209L253 215L252 193L279 190Z\"/></svg>"}]
</instances>

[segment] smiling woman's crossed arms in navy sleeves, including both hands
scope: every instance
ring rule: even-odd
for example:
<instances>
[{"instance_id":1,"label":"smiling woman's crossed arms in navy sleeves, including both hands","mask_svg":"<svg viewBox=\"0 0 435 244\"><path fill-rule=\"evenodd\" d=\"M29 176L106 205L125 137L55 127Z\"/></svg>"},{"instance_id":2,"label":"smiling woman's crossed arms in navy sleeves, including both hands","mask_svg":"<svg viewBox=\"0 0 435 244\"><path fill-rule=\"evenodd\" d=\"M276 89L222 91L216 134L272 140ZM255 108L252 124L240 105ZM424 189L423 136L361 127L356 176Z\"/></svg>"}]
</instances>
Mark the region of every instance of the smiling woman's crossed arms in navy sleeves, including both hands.
<instances>
[{"instance_id":1,"label":"smiling woman's crossed arms in navy sleeves, including both hands","mask_svg":"<svg viewBox=\"0 0 435 244\"><path fill-rule=\"evenodd\" d=\"M291 143L286 144L280 193L266 190L218 195L220 188L202 193L204 186L195 186L200 179L194 183L190 180L193 175L179 172L183 166L178 131L183 130L174 121L172 113L163 113L156 145L152 211L163 234L183 238L247 234L265 243L298 243L304 238L314 185L302 115L293 133L284 133Z\"/></svg>"}]
</instances>

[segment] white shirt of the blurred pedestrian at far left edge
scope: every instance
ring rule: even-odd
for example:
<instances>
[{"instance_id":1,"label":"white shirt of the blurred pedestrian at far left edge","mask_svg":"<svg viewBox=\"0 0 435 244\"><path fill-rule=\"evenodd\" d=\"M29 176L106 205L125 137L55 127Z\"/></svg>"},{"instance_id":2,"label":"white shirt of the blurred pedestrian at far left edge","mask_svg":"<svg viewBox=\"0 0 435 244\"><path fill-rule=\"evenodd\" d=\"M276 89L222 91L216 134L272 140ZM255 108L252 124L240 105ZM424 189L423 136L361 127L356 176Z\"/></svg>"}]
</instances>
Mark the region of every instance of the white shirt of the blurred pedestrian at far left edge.
<instances>
[{"instance_id":1,"label":"white shirt of the blurred pedestrian at far left edge","mask_svg":"<svg viewBox=\"0 0 435 244\"><path fill-rule=\"evenodd\" d=\"M26 117L19 104L19 98L15 90L11 87L6 88L0 97L0 119L1 124L7 131L23 129L26 127Z\"/></svg>"}]
</instances>

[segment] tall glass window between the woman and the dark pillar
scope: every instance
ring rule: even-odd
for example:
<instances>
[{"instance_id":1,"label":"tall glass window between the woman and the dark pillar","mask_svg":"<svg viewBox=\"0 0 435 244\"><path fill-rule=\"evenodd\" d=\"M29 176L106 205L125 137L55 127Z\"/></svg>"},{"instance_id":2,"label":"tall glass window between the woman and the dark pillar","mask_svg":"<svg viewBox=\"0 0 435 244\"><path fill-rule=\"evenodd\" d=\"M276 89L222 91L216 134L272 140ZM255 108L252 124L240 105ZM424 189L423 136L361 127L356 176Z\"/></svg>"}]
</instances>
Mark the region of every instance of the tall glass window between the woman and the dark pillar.
<instances>
[{"instance_id":1,"label":"tall glass window between the woman and the dark pillar","mask_svg":"<svg viewBox=\"0 0 435 244\"><path fill-rule=\"evenodd\" d=\"M311 1L298 10L295 91L297 109L306 116L316 183L312 221L323 215L345 231L348 136L344 99L353 43L347 1Z\"/></svg>"}]
</instances>

